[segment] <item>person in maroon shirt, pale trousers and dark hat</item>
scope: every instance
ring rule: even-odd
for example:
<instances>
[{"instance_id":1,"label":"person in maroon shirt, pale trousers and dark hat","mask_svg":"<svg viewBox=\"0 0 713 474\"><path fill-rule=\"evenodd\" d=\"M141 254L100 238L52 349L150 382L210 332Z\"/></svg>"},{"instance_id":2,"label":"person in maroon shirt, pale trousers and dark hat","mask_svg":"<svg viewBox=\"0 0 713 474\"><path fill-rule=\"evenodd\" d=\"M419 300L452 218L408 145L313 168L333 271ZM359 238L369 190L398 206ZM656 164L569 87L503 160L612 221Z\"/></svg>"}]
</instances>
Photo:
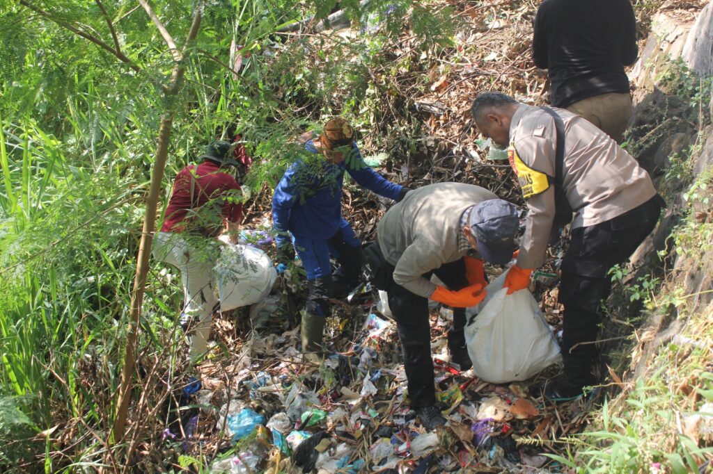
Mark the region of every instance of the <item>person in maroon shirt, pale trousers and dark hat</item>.
<instances>
[{"instance_id":1,"label":"person in maroon shirt, pale trousers and dark hat","mask_svg":"<svg viewBox=\"0 0 713 474\"><path fill-rule=\"evenodd\" d=\"M212 313L217 305L213 290L215 266L211 240L226 233L232 241L242 217L240 185L229 174L237 166L233 146L217 140L200 155L200 164L178 172L168 201L163 226L155 236L154 257L179 268L185 302L182 322L198 320L190 330L190 358L195 361L207 349Z\"/></svg>"}]
</instances>

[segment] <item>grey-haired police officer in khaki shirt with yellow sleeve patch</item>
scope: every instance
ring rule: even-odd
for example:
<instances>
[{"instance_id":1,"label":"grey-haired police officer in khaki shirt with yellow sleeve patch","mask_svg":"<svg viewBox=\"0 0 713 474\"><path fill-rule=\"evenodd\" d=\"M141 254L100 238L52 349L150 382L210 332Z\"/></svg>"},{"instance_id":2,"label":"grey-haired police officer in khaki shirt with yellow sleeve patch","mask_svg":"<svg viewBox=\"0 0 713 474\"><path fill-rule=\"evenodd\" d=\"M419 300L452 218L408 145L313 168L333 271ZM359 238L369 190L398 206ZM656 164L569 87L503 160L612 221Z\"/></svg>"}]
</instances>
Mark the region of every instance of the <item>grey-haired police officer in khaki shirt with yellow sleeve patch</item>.
<instances>
[{"instance_id":1,"label":"grey-haired police officer in khaki shirt with yellow sleeve patch","mask_svg":"<svg viewBox=\"0 0 713 474\"><path fill-rule=\"evenodd\" d=\"M594 341L600 302L610 292L607 271L629 258L651 233L665 203L630 154L572 112L484 93L473 102L472 113L484 136L508 147L529 208L517 263L506 276L508 293L527 288L530 273L545 262L555 209L564 209L570 218L574 213L572 241L561 266L565 371L545 387L545 395L555 400L578 396L584 386L597 382L592 374L598 355ZM560 177L558 122L564 138Z\"/></svg>"}]
</instances>

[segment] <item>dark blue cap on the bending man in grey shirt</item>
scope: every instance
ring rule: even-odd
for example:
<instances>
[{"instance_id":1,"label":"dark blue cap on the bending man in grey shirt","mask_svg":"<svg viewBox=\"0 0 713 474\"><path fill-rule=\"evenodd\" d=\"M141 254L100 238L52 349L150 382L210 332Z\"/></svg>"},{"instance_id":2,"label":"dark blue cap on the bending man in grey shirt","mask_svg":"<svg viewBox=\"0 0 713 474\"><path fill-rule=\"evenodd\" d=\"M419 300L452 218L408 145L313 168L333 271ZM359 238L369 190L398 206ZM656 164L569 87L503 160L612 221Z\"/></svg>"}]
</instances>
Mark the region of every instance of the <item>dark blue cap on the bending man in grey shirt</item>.
<instances>
[{"instance_id":1,"label":"dark blue cap on the bending man in grey shirt","mask_svg":"<svg viewBox=\"0 0 713 474\"><path fill-rule=\"evenodd\" d=\"M468 216L478 253L496 265L508 263L515 251L515 236L520 228L518 209L503 199L489 199L473 206Z\"/></svg>"}]
</instances>

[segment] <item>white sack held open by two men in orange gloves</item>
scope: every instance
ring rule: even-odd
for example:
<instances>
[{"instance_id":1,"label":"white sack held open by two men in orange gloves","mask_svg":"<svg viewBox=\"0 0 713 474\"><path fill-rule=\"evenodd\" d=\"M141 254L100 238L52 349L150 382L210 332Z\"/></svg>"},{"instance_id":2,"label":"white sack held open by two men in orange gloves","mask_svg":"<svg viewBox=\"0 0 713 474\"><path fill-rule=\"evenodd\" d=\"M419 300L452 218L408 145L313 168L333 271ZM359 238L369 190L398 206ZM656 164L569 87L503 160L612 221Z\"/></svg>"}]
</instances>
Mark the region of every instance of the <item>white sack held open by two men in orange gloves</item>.
<instances>
[{"instance_id":1,"label":"white sack held open by two men in orange gloves","mask_svg":"<svg viewBox=\"0 0 713 474\"><path fill-rule=\"evenodd\" d=\"M505 275L486 288L488 295L466 317L468 355L473 371L495 384L525 380L560 359L560 347L528 290L508 295Z\"/></svg>"}]
</instances>

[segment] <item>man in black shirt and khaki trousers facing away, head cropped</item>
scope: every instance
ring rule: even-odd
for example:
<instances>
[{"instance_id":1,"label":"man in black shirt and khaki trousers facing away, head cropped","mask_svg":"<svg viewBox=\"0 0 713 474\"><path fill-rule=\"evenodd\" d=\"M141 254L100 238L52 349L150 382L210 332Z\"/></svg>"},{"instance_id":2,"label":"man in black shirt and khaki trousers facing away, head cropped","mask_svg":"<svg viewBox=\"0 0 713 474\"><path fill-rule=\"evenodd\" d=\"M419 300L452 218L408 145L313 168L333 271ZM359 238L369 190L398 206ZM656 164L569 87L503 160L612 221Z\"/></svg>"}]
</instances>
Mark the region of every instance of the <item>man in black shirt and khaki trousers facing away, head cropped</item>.
<instances>
[{"instance_id":1,"label":"man in black shirt and khaki trousers facing away, head cropped","mask_svg":"<svg viewBox=\"0 0 713 474\"><path fill-rule=\"evenodd\" d=\"M622 141L632 104L625 65L637 58L629 0L544 0L537 11L533 60L548 69L550 102Z\"/></svg>"}]
</instances>

